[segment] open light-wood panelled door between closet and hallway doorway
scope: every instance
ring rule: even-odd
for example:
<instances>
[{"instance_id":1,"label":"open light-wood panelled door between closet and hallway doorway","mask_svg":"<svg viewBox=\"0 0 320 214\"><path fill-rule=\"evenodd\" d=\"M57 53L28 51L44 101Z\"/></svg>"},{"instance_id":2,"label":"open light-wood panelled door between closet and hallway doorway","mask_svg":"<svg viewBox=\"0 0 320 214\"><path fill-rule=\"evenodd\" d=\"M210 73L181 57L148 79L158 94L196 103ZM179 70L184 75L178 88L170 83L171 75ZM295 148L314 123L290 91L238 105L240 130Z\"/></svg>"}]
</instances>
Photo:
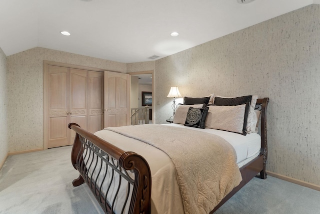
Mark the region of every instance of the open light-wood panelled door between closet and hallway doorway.
<instances>
[{"instance_id":1,"label":"open light-wood panelled door between closet and hallway doorway","mask_svg":"<svg viewBox=\"0 0 320 214\"><path fill-rule=\"evenodd\" d=\"M130 78L128 74L104 72L104 127L130 124Z\"/></svg>"}]
</instances>

